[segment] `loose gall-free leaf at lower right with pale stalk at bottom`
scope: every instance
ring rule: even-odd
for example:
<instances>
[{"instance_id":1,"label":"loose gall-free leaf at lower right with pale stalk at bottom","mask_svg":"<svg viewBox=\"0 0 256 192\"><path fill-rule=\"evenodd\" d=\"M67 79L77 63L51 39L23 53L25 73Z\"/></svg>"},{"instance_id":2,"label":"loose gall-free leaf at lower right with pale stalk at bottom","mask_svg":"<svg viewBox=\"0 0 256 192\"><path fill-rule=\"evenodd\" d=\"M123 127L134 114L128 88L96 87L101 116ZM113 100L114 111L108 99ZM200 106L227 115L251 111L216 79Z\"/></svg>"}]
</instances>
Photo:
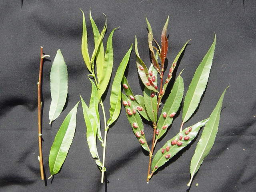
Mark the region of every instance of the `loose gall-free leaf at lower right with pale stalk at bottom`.
<instances>
[{"instance_id":1,"label":"loose gall-free leaf at lower right with pale stalk at bottom","mask_svg":"<svg viewBox=\"0 0 256 192\"><path fill-rule=\"evenodd\" d=\"M223 98L226 90L227 88L224 90L224 92L220 96L220 99L216 107L214 108L212 114L210 115L209 120L206 123L204 130L202 132L202 136L196 146L196 150L190 164L191 179L190 179L190 182L187 184L188 186L190 186L194 175L198 171L204 158L209 154L214 144L214 140L218 132L218 125L220 121L220 110L222 107L222 102L223 102Z\"/></svg>"}]
</instances>

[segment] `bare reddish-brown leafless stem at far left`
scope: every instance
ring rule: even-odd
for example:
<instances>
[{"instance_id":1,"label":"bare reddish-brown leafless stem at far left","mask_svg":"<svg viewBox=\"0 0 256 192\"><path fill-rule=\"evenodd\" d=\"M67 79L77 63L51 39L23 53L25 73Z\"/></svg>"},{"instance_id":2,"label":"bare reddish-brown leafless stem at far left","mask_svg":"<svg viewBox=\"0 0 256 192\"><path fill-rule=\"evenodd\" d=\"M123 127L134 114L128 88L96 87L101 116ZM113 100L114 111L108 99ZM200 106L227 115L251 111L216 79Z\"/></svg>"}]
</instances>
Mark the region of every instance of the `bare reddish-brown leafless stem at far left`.
<instances>
[{"instance_id":1,"label":"bare reddish-brown leafless stem at far left","mask_svg":"<svg viewBox=\"0 0 256 192\"><path fill-rule=\"evenodd\" d=\"M41 80L42 80L42 69L43 69L43 47L40 47L40 69L39 78L37 82L38 87L38 146L39 146L39 164L41 180L44 180L44 164L43 164L43 153L42 153L42 128L41 128Z\"/></svg>"}]
</instances>

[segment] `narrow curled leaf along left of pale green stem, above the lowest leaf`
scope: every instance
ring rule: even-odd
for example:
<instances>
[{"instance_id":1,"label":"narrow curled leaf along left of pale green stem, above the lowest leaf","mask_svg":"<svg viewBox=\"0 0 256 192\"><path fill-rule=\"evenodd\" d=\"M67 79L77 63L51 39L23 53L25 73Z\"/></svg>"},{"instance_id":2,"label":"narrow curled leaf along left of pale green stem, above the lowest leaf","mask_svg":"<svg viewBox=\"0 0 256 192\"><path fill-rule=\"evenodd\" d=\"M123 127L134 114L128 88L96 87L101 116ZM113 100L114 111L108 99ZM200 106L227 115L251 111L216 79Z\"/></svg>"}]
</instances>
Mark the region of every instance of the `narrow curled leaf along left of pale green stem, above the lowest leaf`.
<instances>
[{"instance_id":1,"label":"narrow curled leaf along left of pale green stem, above the lowest leaf","mask_svg":"<svg viewBox=\"0 0 256 192\"><path fill-rule=\"evenodd\" d=\"M97 124L97 137L100 142L103 144L103 139L100 132L100 114L99 114L99 98L98 98L98 90L94 82L89 78L90 82L92 83L92 93L90 99L90 112L94 117L94 120Z\"/></svg>"}]
</instances>

